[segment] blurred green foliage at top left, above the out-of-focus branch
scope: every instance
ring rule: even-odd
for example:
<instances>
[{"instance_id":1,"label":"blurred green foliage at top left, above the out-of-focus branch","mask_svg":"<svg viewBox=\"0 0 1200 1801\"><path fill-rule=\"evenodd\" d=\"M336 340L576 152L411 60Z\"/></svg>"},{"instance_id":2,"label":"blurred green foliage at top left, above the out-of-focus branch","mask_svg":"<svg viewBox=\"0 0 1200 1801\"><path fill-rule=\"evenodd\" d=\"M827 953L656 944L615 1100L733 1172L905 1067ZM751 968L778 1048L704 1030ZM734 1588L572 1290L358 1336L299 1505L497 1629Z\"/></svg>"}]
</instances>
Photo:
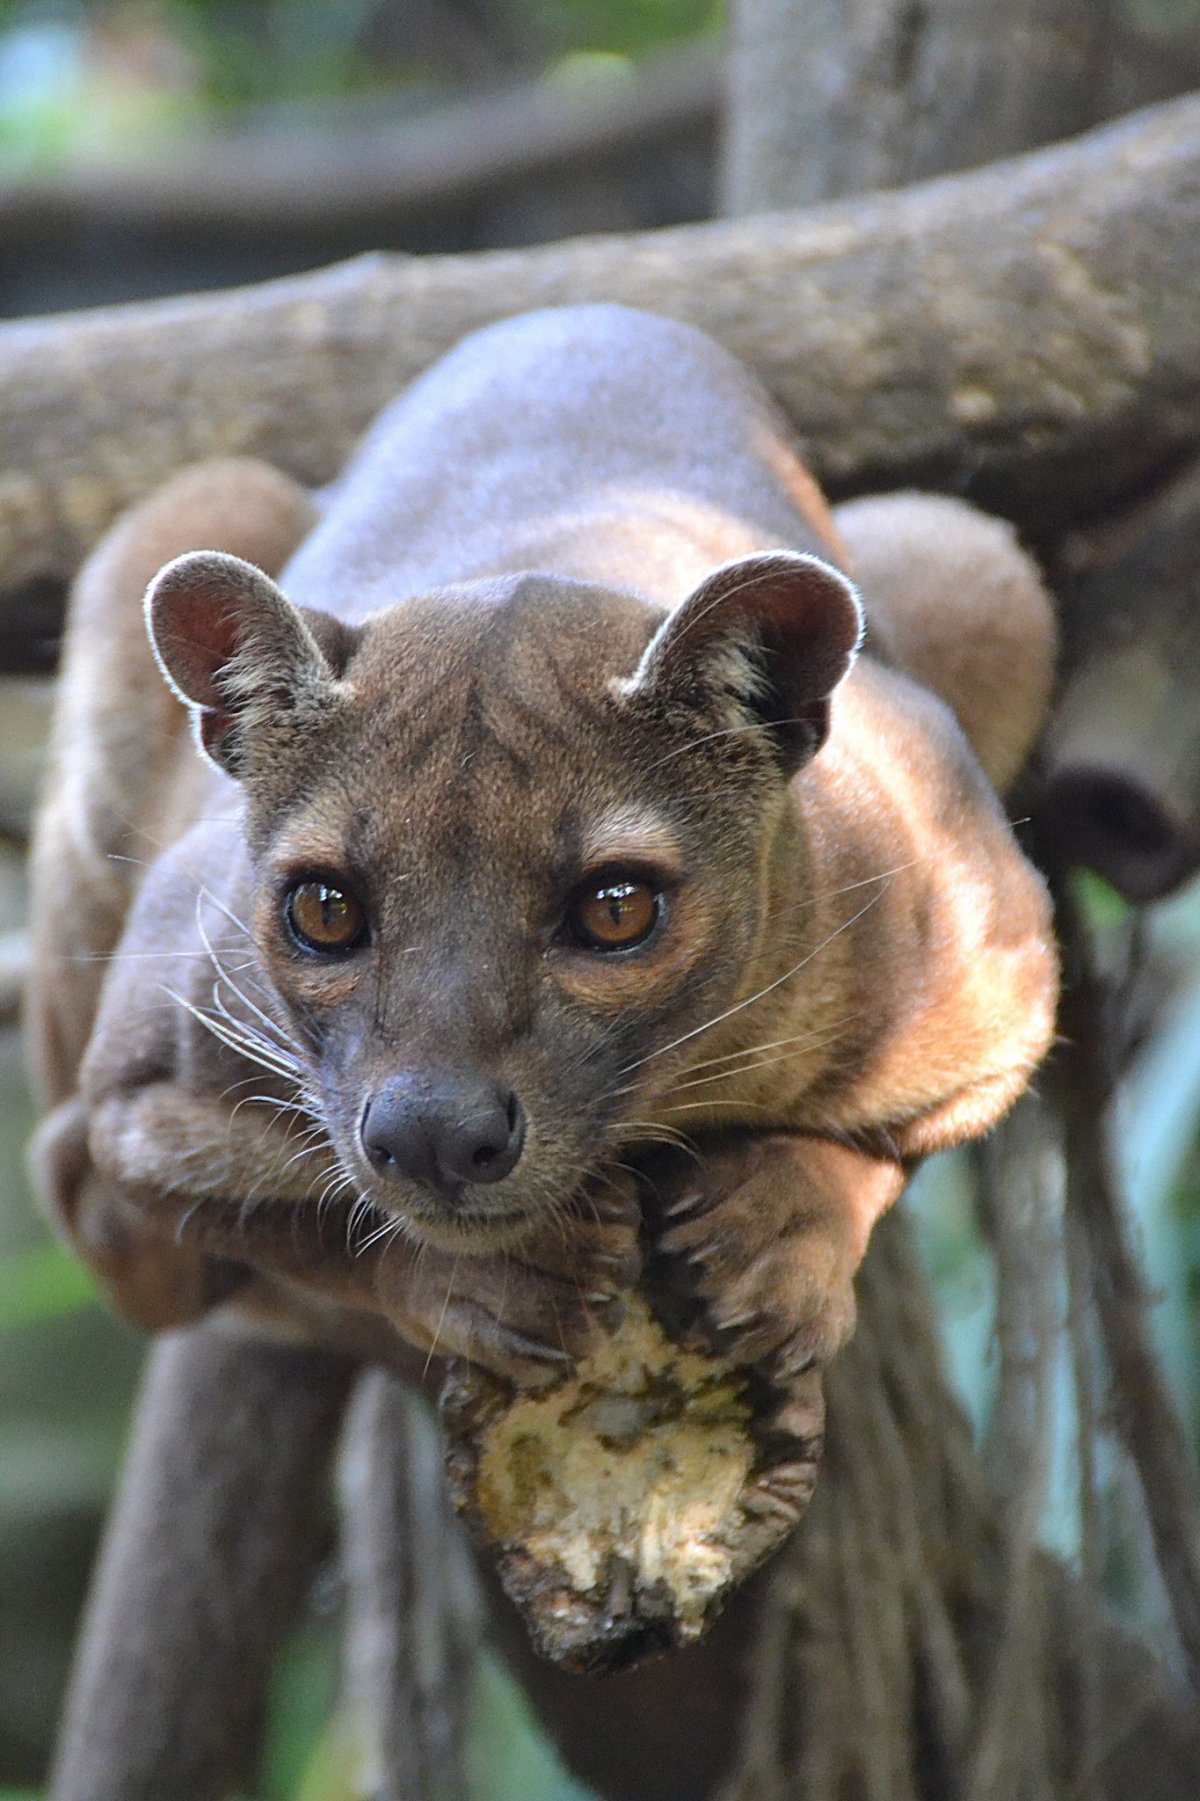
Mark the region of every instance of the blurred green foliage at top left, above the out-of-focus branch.
<instances>
[{"instance_id":1,"label":"blurred green foliage at top left, above the out-of-focus branch","mask_svg":"<svg viewBox=\"0 0 1200 1801\"><path fill-rule=\"evenodd\" d=\"M580 54L634 59L715 32L721 0L492 0L447 36L436 7L380 0L0 0L0 169L153 153L247 106L393 95L553 76ZM452 9L445 23L454 23ZM456 52L458 43L458 52Z\"/></svg>"}]
</instances>

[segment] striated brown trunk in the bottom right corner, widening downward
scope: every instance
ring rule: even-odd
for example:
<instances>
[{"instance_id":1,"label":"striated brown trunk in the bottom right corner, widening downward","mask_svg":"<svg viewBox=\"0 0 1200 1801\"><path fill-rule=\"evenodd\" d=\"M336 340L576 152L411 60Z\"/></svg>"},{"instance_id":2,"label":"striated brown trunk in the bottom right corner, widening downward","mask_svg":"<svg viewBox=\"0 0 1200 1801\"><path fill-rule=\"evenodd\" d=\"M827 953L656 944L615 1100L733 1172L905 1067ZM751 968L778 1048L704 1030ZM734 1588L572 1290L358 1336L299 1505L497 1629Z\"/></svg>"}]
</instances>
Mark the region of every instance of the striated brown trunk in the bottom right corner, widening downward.
<instances>
[{"instance_id":1,"label":"striated brown trunk in the bottom right corner, widening downward","mask_svg":"<svg viewBox=\"0 0 1200 1801\"><path fill-rule=\"evenodd\" d=\"M723 1801L1182 1801L1200 1776L1193 1700L996 1515L906 1241L903 1216L881 1221L859 1277L822 1482L773 1572ZM1007 1479L1036 1520L1040 1471Z\"/></svg>"}]
</instances>

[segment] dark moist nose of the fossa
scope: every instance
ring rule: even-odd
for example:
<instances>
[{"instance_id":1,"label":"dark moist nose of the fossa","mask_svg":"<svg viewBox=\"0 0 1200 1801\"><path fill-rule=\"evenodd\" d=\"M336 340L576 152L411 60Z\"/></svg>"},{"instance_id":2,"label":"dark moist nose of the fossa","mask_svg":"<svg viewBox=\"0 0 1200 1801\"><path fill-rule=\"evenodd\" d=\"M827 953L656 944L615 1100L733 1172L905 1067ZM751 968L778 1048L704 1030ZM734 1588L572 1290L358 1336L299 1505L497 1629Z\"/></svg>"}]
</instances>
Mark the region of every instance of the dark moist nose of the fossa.
<instances>
[{"instance_id":1,"label":"dark moist nose of the fossa","mask_svg":"<svg viewBox=\"0 0 1200 1801\"><path fill-rule=\"evenodd\" d=\"M501 1181L524 1145L524 1111L512 1088L479 1075L393 1075L362 1115L362 1149L384 1176L441 1192Z\"/></svg>"}]
</instances>

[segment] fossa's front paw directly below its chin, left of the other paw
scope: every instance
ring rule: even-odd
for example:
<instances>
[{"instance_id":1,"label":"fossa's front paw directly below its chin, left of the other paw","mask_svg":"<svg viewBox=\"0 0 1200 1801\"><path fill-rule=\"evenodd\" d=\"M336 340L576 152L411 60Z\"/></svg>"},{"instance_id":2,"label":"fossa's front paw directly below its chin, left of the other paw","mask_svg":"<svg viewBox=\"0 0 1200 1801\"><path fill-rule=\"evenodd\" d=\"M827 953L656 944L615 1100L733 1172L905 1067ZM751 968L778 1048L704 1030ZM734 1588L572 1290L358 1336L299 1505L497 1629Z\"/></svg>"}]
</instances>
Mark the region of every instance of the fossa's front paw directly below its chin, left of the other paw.
<instances>
[{"instance_id":1,"label":"fossa's front paw directly below its chin, left of the other paw","mask_svg":"<svg viewBox=\"0 0 1200 1801\"><path fill-rule=\"evenodd\" d=\"M396 1250L380 1259L377 1293L409 1340L542 1389L620 1326L622 1293L641 1268L636 1192L623 1176L596 1185L512 1250Z\"/></svg>"}]
</instances>

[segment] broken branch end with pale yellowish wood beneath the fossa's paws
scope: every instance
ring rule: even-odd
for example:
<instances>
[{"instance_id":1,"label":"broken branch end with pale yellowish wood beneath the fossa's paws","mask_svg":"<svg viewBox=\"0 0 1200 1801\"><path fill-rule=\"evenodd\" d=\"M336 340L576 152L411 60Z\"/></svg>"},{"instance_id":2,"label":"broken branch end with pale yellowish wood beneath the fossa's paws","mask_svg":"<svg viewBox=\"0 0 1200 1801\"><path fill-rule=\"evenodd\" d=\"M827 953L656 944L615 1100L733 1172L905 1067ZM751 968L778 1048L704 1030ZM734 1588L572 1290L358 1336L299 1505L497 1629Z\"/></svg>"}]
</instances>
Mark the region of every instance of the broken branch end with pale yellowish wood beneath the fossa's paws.
<instances>
[{"instance_id":1,"label":"broken branch end with pale yellowish wood beneath the fossa's paws","mask_svg":"<svg viewBox=\"0 0 1200 1801\"><path fill-rule=\"evenodd\" d=\"M818 1369L771 1389L676 1345L641 1295L551 1390L459 1363L441 1396L459 1513L533 1646L587 1675L701 1637L800 1520L823 1419Z\"/></svg>"}]
</instances>

